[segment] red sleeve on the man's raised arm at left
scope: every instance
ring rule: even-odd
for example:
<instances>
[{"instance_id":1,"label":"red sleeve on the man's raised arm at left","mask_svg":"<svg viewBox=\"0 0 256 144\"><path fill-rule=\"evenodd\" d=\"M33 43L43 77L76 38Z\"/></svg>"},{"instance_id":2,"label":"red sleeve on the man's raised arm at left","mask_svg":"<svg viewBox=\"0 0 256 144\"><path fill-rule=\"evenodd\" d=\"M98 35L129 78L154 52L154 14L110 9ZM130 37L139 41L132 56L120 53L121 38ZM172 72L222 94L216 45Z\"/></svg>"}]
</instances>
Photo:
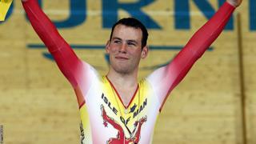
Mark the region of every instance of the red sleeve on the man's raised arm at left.
<instances>
[{"instance_id":1,"label":"red sleeve on the man's raised arm at left","mask_svg":"<svg viewBox=\"0 0 256 144\"><path fill-rule=\"evenodd\" d=\"M72 86L77 86L76 73L81 65L74 51L69 44L58 34L58 30L54 24L47 18L41 8L38 6L37 0L28 0L22 2L31 25L45 43L46 47L53 55L54 60L57 62L59 69L70 81Z\"/></svg>"}]
</instances>

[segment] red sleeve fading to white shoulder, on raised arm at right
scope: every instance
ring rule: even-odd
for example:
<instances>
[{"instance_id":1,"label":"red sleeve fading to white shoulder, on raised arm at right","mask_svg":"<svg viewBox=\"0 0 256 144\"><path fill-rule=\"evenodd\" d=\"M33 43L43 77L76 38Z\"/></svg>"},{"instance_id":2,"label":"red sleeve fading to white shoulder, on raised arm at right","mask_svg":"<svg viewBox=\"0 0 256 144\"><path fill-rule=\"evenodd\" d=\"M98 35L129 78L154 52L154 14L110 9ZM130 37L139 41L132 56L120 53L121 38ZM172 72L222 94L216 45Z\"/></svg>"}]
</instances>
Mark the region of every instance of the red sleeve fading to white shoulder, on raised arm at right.
<instances>
[{"instance_id":1,"label":"red sleeve fading to white shoulder, on raised arm at right","mask_svg":"<svg viewBox=\"0 0 256 144\"><path fill-rule=\"evenodd\" d=\"M216 14L190 38L190 41L170 64L155 70L150 75L150 83L153 87L157 86L155 93L159 96L160 110L170 91L182 81L182 78L186 76L194 62L202 56L211 43L221 34L234 9L234 6L225 2Z\"/></svg>"}]
</instances>

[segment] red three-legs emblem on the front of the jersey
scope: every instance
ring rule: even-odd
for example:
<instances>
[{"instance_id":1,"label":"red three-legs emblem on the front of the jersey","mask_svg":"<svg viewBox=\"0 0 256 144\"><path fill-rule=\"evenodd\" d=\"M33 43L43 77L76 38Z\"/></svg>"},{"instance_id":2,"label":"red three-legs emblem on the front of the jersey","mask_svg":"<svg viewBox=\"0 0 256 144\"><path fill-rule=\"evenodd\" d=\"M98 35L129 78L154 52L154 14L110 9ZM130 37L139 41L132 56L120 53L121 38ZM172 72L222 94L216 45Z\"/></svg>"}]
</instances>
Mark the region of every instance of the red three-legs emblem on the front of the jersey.
<instances>
[{"instance_id":1,"label":"red three-legs emblem on the front of the jersey","mask_svg":"<svg viewBox=\"0 0 256 144\"><path fill-rule=\"evenodd\" d=\"M102 110L102 118L103 118L103 125L105 127L108 126L108 123L114 127L114 129L118 130L118 134L116 138L110 138L107 143L108 144L120 144L120 143L124 143L124 144L130 144L130 143L138 143L139 139L140 139L140 135L141 135L141 129L142 129L142 124L144 122L146 122L146 117L143 117L141 119L139 119L138 121L136 121L134 123L134 130L133 132L130 134L130 138L126 138L124 130L122 130L122 126L120 126L120 124L118 124L118 122L114 121L113 118L110 118L107 114L106 114L106 110L104 109L104 106L101 106L101 110Z\"/></svg>"}]
</instances>

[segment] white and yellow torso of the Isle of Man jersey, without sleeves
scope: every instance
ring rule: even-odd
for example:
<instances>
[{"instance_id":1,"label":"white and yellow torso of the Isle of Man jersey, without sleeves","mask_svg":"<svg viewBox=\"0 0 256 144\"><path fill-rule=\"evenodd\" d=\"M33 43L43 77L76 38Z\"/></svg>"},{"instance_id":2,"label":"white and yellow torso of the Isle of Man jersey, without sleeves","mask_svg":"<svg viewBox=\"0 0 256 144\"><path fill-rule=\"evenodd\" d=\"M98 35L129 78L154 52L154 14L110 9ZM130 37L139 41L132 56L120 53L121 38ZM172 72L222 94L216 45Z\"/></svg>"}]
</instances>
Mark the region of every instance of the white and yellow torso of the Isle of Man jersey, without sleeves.
<instances>
[{"instance_id":1,"label":"white and yellow torso of the Isle of Man jersey, without sleeves","mask_svg":"<svg viewBox=\"0 0 256 144\"><path fill-rule=\"evenodd\" d=\"M129 105L124 106L106 76L91 78L86 102L80 106L82 142L150 143L161 106L150 82L140 81Z\"/></svg>"}]
</instances>

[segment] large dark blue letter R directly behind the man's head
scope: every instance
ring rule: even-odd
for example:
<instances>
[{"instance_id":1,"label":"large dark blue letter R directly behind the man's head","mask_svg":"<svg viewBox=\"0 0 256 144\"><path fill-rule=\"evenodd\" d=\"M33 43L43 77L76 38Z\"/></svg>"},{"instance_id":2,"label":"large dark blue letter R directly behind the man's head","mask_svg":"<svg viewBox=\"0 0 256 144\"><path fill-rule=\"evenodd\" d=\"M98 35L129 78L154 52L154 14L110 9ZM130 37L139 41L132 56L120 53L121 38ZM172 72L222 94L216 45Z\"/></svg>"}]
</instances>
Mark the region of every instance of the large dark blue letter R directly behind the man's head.
<instances>
[{"instance_id":1,"label":"large dark blue letter R directly behind the man's head","mask_svg":"<svg viewBox=\"0 0 256 144\"><path fill-rule=\"evenodd\" d=\"M147 28L161 29L157 22L154 22L149 15L142 12L141 8L155 0L139 0L138 2L120 3L118 0L102 0L103 28L111 28L118 21L118 8L126 10L129 14L138 18Z\"/></svg>"}]
</instances>

